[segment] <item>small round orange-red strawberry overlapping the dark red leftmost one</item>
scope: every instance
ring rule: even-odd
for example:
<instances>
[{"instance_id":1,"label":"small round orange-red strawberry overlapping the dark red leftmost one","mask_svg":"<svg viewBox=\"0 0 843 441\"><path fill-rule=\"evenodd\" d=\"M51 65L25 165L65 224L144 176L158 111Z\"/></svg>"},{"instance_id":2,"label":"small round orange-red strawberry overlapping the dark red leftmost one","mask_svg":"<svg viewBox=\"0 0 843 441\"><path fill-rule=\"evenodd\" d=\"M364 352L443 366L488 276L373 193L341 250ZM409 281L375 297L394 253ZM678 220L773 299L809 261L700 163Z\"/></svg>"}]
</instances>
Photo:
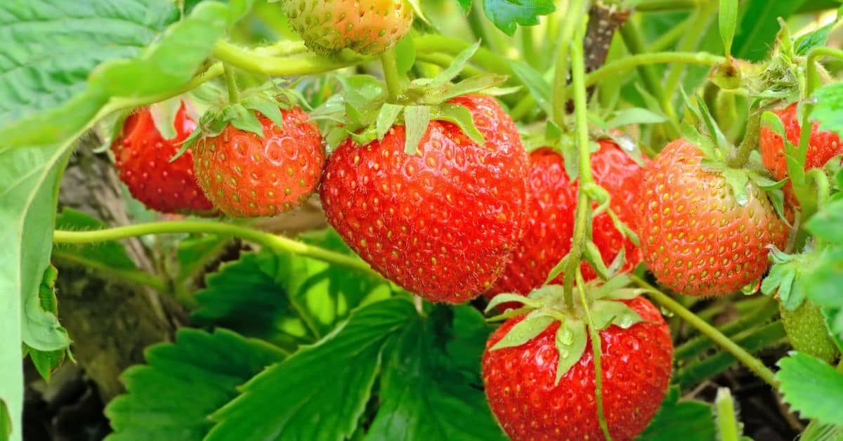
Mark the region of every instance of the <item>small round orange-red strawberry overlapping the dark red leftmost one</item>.
<instances>
[{"instance_id":1,"label":"small round orange-red strawberry overlapping the dark red leftmost one","mask_svg":"<svg viewBox=\"0 0 843 441\"><path fill-rule=\"evenodd\" d=\"M274 216L301 205L319 184L325 167L319 129L299 107L281 113L282 127L256 113L263 137L229 125L196 143L199 186L220 211Z\"/></svg>"}]
</instances>

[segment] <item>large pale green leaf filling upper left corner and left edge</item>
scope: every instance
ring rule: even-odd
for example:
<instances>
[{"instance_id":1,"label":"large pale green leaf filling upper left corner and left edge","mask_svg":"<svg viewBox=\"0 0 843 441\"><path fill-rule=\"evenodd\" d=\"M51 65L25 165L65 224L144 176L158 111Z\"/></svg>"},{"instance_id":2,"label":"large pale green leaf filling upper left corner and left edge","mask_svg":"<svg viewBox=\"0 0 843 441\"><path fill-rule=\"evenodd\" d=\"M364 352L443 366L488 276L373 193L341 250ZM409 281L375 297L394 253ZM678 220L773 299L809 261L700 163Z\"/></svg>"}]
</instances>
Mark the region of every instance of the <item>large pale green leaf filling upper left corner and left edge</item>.
<instances>
[{"instance_id":1,"label":"large pale green leaf filling upper left corner and left edge","mask_svg":"<svg viewBox=\"0 0 843 441\"><path fill-rule=\"evenodd\" d=\"M0 236L5 256L0 365L17 366L0 379L0 398L14 424L23 401L20 341L40 351L69 343L56 316L40 308L37 288L50 257L56 186L73 141L93 124L111 94L141 98L185 83L231 16L223 3L205 2L164 35L178 13L163 0L5 2L0 16L24 18L0 26L4 51L12 54L0 61L0 81L6 85L0 88L0 224L7 229ZM138 78L148 78L142 89L135 89ZM12 436L19 439L20 431Z\"/></svg>"}]
</instances>

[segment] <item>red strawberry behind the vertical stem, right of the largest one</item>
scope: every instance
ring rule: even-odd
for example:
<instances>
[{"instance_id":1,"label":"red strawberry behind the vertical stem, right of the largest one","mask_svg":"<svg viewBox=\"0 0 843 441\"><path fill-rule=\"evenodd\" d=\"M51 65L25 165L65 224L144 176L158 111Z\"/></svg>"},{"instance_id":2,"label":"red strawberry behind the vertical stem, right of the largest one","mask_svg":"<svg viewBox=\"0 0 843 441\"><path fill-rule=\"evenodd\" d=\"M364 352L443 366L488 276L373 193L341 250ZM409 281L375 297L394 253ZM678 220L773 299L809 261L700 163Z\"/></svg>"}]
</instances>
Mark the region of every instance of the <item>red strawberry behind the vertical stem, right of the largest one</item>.
<instances>
[{"instance_id":1,"label":"red strawberry behind the vertical stem, right of the largest one","mask_svg":"<svg viewBox=\"0 0 843 441\"><path fill-rule=\"evenodd\" d=\"M591 155L594 180L609 191L611 207L618 218L635 230L636 217L632 202L643 179L643 169L610 139L599 141L600 149ZM577 208L577 186L565 173L561 154L540 148L529 154L527 186L527 226L524 239L518 244L513 261L486 293L527 294L544 284L550 270L571 250L574 213ZM621 272L629 272L642 261L641 250L615 229L609 214L602 212L593 219L593 241L608 266L620 249L626 261ZM583 277L597 277L592 267L583 262ZM561 283L561 276L554 282Z\"/></svg>"}]
</instances>

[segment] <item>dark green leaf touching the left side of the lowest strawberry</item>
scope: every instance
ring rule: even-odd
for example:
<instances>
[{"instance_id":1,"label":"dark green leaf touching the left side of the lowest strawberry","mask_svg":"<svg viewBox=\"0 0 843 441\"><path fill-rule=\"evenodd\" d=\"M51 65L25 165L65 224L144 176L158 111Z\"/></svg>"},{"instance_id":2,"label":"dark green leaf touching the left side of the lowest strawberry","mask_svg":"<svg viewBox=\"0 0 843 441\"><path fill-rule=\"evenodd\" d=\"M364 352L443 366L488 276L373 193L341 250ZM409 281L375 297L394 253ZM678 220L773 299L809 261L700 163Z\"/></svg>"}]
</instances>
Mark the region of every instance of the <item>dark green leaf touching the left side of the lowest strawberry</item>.
<instances>
[{"instance_id":1,"label":"dark green leaf touching the left side of the lowest strawberry","mask_svg":"<svg viewBox=\"0 0 843 441\"><path fill-rule=\"evenodd\" d=\"M460 314L470 314L470 325L457 326ZM445 317L438 318L441 315ZM449 320L451 315L453 320ZM384 349L380 408L366 440L506 439L478 387L483 338L470 346L473 363L454 363L457 351L464 351L466 345L454 347L453 342L465 336L485 337L488 331L482 317L467 306L453 311L436 307L429 318L412 320Z\"/></svg>"}]
</instances>

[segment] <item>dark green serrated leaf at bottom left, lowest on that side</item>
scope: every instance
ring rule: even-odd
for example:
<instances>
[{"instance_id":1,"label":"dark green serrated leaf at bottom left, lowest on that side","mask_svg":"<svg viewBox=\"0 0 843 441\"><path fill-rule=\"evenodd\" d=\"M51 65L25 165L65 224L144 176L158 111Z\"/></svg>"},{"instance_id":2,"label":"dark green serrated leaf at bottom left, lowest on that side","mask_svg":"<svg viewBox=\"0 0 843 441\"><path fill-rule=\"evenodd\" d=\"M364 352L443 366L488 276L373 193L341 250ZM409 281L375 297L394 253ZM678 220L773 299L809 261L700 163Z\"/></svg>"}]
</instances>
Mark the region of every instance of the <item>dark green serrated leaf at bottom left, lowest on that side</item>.
<instances>
[{"instance_id":1,"label":"dark green serrated leaf at bottom left, lowest on that side","mask_svg":"<svg viewBox=\"0 0 843 441\"><path fill-rule=\"evenodd\" d=\"M213 425L208 415L283 357L277 347L232 331L183 328L175 343L148 347L148 364L122 374L127 392L105 408L115 431L107 439L201 440Z\"/></svg>"}]
</instances>

